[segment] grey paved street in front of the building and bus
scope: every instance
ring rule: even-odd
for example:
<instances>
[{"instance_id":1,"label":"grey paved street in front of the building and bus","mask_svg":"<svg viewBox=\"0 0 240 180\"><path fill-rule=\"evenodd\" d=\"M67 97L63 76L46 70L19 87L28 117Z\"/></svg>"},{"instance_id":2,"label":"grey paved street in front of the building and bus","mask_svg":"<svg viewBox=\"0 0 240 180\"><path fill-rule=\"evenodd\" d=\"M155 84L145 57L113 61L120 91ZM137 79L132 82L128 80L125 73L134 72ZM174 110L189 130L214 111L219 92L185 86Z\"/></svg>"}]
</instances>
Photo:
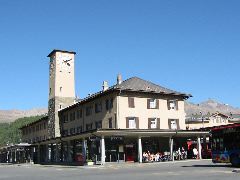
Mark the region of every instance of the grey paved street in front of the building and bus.
<instances>
[{"instance_id":1,"label":"grey paved street in front of the building and bus","mask_svg":"<svg viewBox=\"0 0 240 180\"><path fill-rule=\"evenodd\" d=\"M164 180L221 180L239 179L240 169L210 160L175 161L162 163L121 163L104 166L47 166L0 165L0 179L17 180L110 180L110 179L164 179Z\"/></svg>"}]
</instances>

